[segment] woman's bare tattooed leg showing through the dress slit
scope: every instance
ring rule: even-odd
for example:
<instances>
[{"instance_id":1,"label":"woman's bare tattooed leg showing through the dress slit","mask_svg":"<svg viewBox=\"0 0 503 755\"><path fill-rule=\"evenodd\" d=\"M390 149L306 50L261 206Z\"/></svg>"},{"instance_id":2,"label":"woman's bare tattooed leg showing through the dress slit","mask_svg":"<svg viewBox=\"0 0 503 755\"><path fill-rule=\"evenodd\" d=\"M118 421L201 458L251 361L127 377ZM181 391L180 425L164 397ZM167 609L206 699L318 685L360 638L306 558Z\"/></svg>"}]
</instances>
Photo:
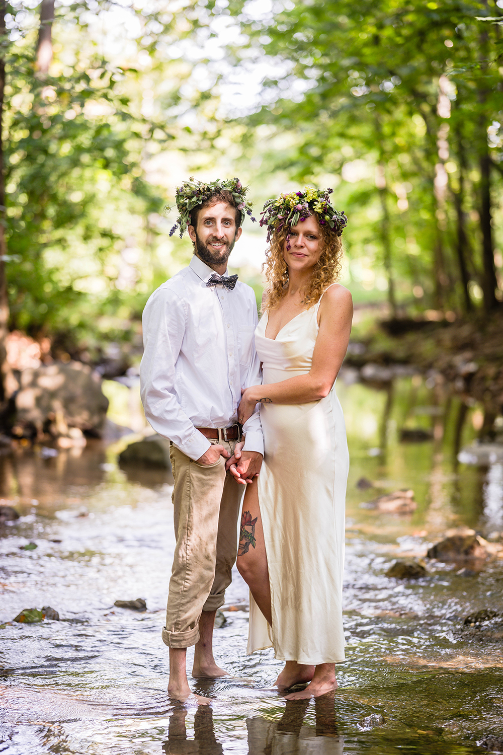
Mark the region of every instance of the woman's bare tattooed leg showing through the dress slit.
<instances>
[{"instance_id":1,"label":"woman's bare tattooed leg showing through the dress slit","mask_svg":"<svg viewBox=\"0 0 503 755\"><path fill-rule=\"evenodd\" d=\"M256 479L251 485L247 485L244 494L237 564L238 572L250 587L253 599L265 620L272 624L271 588Z\"/></svg>"}]
</instances>

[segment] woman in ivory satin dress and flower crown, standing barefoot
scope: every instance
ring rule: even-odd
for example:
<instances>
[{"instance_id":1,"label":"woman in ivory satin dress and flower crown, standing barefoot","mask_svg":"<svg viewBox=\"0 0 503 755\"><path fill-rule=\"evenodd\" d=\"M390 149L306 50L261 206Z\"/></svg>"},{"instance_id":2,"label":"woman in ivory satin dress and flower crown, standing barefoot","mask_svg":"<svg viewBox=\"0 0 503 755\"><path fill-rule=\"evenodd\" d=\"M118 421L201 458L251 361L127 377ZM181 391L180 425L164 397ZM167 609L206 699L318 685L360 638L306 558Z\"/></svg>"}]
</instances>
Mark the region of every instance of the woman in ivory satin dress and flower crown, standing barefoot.
<instances>
[{"instance_id":1,"label":"woman in ivory satin dress and flower crown, standing barefoot","mask_svg":"<svg viewBox=\"0 0 503 755\"><path fill-rule=\"evenodd\" d=\"M344 660L342 566L348 448L334 384L348 347L351 294L340 270L344 213L331 190L306 187L266 202L269 283L256 329L263 384L247 388L244 422L260 403L265 455L247 486L238 569L250 597L248 652L286 661L287 699L336 689Z\"/></svg>"}]
</instances>

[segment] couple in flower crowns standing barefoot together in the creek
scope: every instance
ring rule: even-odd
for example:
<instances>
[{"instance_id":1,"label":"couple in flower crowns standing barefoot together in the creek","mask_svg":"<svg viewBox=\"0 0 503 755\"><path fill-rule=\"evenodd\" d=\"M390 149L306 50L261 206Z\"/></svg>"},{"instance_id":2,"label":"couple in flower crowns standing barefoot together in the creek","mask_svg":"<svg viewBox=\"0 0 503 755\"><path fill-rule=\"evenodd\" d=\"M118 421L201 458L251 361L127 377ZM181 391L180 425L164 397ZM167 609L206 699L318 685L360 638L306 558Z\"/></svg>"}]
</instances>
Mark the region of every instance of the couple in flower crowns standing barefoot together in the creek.
<instances>
[{"instance_id":1,"label":"couple in flower crowns standing barefoot together in the creek","mask_svg":"<svg viewBox=\"0 0 503 755\"><path fill-rule=\"evenodd\" d=\"M345 214L331 190L265 203L268 285L227 276L251 204L237 178L176 190L194 256L149 298L140 368L146 418L170 439L176 547L162 639L171 698L225 676L213 624L236 558L250 587L247 652L273 647L287 700L336 689L344 660L342 567L348 447L334 387L351 331L336 283ZM243 495L244 492L244 495ZM242 499L241 532L238 516ZM208 698L196 696L201 704Z\"/></svg>"}]
</instances>

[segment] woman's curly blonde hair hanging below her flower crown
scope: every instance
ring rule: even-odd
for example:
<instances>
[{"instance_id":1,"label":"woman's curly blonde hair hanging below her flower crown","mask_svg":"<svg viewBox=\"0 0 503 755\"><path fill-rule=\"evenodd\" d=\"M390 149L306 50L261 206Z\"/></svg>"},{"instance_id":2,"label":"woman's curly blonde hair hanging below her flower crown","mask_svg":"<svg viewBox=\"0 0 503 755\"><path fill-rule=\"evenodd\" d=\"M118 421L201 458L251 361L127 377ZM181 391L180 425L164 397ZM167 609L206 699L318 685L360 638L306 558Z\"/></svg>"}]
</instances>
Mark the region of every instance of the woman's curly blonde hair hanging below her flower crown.
<instances>
[{"instance_id":1,"label":"woman's curly blonde hair hanging below her flower crown","mask_svg":"<svg viewBox=\"0 0 503 755\"><path fill-rule=\"evenodd\" d=\"M336 229L328 226L322 226L316 213L318 227L321 233L322 251L320 259L314 266L308 287L305 290L302 304L307 305L308 309L314 307L314 304L320 300L325 288L339 278L341 273L342 259L342 241L340 234ZM265 300L262 303L262 312L265 310L274 310L278 307L279 301L287 293L288 286L288 266L284 259L284 242L287 239L291 229L283 227L281 230L272 234L271 245L265 252L265 263L262 270L265 270L269 288L266 291Z\"/></svg>"}]
</instances>

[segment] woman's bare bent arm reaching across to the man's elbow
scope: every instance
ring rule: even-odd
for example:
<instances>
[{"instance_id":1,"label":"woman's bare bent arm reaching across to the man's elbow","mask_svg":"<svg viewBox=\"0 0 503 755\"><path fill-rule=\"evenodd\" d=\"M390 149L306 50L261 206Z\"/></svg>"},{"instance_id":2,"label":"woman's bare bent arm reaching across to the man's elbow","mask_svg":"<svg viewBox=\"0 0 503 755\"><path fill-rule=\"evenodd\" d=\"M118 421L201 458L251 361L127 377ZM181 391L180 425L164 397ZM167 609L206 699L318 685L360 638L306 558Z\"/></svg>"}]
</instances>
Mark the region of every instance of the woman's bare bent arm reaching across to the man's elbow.
<instances>
[{"instance_id":1,"label":"woman's bare bent arm reaching across to the man's elbow","mask_svg":"<svg viewBox=\"0 0 503 755\"><path fill-rule=\"evenodd\" d=\"M238 408L241 423L253 414L257 403L305 404L323 399L330 392L348 349L353 303L342 285L331 286L321 300L320 329L314 345L311 369L305 375L281 383L247 388Z\"/></svg>"}]
</instances>

